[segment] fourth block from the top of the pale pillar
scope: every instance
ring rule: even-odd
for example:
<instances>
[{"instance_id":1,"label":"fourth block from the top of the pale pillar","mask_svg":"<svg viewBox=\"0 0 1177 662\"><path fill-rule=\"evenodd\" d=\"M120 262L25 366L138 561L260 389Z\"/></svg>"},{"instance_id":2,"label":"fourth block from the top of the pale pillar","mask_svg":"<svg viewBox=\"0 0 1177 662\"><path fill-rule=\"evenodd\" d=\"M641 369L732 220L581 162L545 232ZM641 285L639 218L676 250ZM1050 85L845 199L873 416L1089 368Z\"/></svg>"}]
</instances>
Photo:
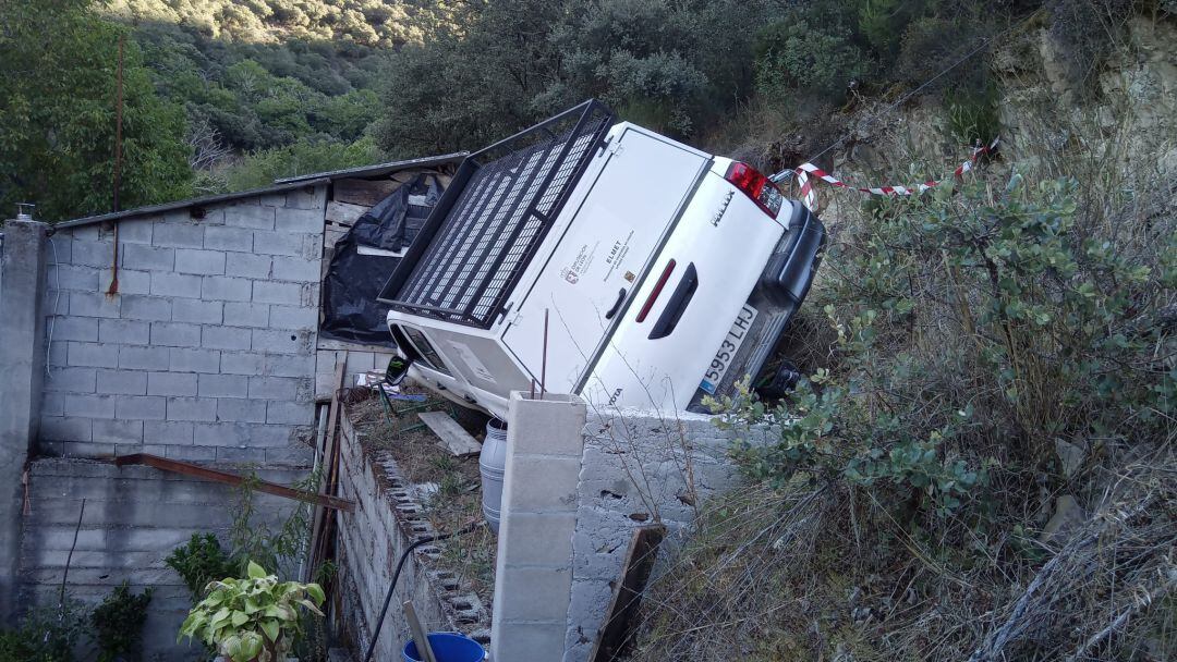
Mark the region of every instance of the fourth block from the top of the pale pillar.
<instances>
[{"instance_id":1,"label":"fourth block from the top of the pale pillar","mask_svg":"<svg viewBox=\"0 0 1177 662\"><path fill-rule=\"evenodd\" d=\"M568 599L572 594L572 569L567 566L553 568L503 568L503 584L512 587L499 600L494 591L494 618L512 621L556 621L559 624L560 647L564 646L564 630ZM494 579L499 584L498 573ZM552 658L552 660L557 660ZM540 660L534 657L533 660ZM548 660L544 657L544 660Z\"/></svg>"}]
</instances>

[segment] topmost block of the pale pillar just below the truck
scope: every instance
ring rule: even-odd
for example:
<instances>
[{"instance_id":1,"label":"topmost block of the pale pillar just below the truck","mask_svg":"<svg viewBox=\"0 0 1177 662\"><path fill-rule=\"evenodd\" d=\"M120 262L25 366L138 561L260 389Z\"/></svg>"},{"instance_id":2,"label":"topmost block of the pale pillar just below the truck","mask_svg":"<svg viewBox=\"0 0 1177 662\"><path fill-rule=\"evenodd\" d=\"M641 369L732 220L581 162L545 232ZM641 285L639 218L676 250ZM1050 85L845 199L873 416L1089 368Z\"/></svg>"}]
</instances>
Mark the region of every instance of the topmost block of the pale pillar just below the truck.
<instances>
[{"instance_id":1,"label":"topmost block of the pale pillar just below the truck","mask_svg":"<svg viewBox=\"0 0 1177 662\"><path fill-rule=\"evenodd\" d=\"M547 394L544 400L532 400L526 393L513 392L510 407L507 429L516 453L560 455L579 461L587 415L580 397Z\"/></svg>"}]
</instances>

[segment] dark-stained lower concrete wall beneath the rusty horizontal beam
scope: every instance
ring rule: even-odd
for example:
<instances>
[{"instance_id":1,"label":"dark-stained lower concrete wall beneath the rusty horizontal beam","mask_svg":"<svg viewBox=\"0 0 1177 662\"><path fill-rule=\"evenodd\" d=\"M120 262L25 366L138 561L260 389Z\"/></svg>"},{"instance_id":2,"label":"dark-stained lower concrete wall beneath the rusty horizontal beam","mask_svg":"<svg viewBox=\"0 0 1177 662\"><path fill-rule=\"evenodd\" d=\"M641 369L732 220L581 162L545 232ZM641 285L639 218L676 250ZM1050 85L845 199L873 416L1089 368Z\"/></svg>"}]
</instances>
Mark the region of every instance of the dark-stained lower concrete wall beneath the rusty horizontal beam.
<instances>
[{"instance_id":1,"label":"dark-stained lower concrete wall beneath the rusty horizontal beam","mask_svg":"<svg viewBox=\"0 0 1177 662\"><path fill-rule=\"evenodd\" d=\"M198 658L201 647L175 643L191 600L179 575L164 560L197 531L215 533L224 542L240 493L149 467L118 468L89 460L42 459L29 469L21 582L19 593L14 591L20 603L56 604L81 514L78 544L69 560L68 595L93 606L124 580L137 593L154 587L144 628L145 658ZM293 469L259 472L262 479L280 483L293 482L301 474ZM270 524L297 507L293 501L266 494L254 494L254 506L255 521Z\"/></svg>"}]
</instances>

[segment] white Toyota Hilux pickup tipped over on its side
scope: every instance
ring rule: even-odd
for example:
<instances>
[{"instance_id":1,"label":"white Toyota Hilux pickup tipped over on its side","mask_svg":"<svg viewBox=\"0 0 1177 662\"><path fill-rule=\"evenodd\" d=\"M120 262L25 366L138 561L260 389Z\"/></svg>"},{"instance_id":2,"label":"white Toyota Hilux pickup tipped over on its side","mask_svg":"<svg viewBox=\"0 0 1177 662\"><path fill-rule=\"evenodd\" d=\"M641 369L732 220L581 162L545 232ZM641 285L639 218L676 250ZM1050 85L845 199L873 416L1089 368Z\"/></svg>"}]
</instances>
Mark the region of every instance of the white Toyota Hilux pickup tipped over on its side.
<instances>
[{"instance_id":1,"label":"white Toyota Hilux pickup tipped over on its side","mask_svg":"<svg viewBox=\"0 0 1177 662\"><path fill-rule=\"evenodd\" d=\"M471 154L379 300L410 375L494 416L541 387L700 410L760 373L824 242L750 166L587 101Z\"/></svg>"}]
</instances>

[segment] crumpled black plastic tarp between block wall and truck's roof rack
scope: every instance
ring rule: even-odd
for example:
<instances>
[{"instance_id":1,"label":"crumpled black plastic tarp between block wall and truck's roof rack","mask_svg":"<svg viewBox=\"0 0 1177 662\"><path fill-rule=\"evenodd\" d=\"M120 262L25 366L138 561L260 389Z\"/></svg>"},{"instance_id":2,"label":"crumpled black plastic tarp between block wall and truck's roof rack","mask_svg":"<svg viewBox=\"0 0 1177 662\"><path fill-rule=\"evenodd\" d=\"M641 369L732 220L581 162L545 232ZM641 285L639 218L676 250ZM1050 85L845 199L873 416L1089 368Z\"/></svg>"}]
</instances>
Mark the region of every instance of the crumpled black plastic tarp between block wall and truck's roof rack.
<instances>
[{"instance_id":1,"label":"crumpled black plastic tarp between block wall and truck's roof rack","mask_svg":"<svg viewBox=\"0 0 1177 662\"><path fill-rule=\"evenodd\" d=\"M375 297L400 261L390 253L408 247L441 193L434 175L417 175L368 209L335 242L335 255L322 279L321 336L395 347L385 325L388 307Z\"/></svg>"}]
</instances>

